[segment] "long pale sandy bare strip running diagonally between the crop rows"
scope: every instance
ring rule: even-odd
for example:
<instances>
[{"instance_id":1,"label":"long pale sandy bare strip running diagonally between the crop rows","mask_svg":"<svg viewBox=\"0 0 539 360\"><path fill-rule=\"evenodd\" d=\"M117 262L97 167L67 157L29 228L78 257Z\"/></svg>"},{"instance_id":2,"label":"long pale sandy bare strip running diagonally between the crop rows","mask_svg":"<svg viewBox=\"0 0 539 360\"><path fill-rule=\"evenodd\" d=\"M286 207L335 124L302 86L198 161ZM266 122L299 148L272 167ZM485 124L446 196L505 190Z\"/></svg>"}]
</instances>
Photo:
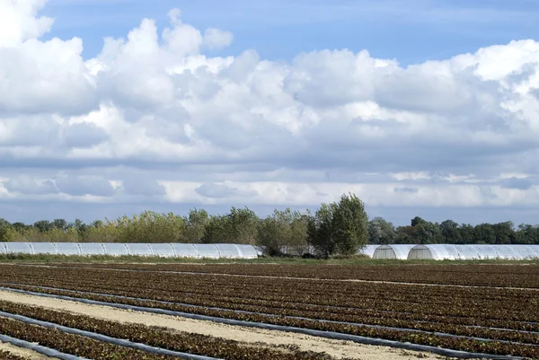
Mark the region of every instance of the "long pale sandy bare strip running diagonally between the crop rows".
<instances>
[{"instance_id":1,"label":"long pale sandy bare strip running diagonally between the crop rows","mask_svg":"<svg viewBox=\"0 0 539 360\"><path fill-rule=\"evenodd\" d=\"M147 312L133 312L108 306L76 303L26 294L15 294L7 291L0 291L0 300L11 303L38 305L46 309L93 316L94 318L102 320L144 324L146 326L168 328L171 331L190 332L216 338L226 338L243 342L246 346L261 346L261 344L265 344L270 347L298 347L298 349L303 351L325 352L335 358L370 360L413 360L418 358L447 359L445 356L412 352L408 350L404 351L402 349L391 347L368 346L350 341L318 338L286 331L243 328L240 326L219 324L212 321L192 320Z\"/></svg>"}]
</instances>

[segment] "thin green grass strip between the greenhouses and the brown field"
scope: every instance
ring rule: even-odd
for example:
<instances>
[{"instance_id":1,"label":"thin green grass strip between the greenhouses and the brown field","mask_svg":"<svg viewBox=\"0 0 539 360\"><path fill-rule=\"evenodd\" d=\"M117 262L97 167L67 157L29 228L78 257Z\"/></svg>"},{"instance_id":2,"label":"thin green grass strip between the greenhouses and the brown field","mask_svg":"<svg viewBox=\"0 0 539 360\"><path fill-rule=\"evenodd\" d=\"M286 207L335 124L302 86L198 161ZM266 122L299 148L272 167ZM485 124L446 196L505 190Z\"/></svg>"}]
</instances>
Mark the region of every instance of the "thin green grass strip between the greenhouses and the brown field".
<instances>
[{"instance_id":1,"label":"thin green grass strip between the greenhouses and the brown field","mask_svg":"<svg viewBox=\"0 0 539 360\"><path fill-rule=\"evenodd\" d=\"M192 259L192 258L160 258L141 256L110 256L110 255L30 255L30 254L0 254L0 263L158 263L158 264L280 264L280 265L468 265L468 264L534 264L539 265L539 259L505 260L400 260L400 259L370 259L366 256L331 259L301 259L301 258L259 258L259 259Z\"/></svg>"}]
</instances>

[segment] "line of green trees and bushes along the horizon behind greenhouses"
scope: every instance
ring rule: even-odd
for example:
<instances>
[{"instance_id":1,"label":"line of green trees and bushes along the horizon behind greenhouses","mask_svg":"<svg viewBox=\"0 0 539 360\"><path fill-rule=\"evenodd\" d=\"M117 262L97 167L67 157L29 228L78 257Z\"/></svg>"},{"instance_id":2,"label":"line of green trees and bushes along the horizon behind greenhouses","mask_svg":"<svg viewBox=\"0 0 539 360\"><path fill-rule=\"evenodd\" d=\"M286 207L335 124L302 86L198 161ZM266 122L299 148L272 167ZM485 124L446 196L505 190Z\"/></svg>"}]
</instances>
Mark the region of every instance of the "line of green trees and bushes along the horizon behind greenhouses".
<instances>
[{"instance_id":1,"label":"line of green trees and bushes along the horizon behind greenhouses","mask_svg":"<svg viewBox=\"0 0 539 360\"><path fill-rule=\"evenodd\" d=\"M0 219L0 241L228 242L261 245L270 255L314 250L328 257L354 254L367 243L539 244L539 226L516 228L511 222L473 226L452 220L438 224L416 216L410 225L395 227L382 217L368 220L363 202L343 194L338 202L322 204L314 213L276 209L265 218L248 207L233 206L224 215L197 208L183 216L145 211L91 224L64 219L10 224Z\"/></svg>"}]
</instances>

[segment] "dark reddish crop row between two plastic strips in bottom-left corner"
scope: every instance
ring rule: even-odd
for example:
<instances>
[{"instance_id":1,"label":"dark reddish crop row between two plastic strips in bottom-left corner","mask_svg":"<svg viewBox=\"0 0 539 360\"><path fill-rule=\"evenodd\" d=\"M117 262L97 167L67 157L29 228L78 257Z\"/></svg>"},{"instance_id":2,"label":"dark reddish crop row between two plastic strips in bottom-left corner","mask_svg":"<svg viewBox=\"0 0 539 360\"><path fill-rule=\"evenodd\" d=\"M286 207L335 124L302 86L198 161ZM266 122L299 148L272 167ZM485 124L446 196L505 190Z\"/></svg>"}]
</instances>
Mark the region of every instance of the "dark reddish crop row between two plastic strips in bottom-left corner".
<instances>
[{"instance_id":1,"label":"dark reddish crop row between two plastic strips in bottom-left corner","mask_svg":"<svg viewBox=\"0 0 539 360\"><path fill-rule=\"evenodd\" d=\"M106 342L85 338L80 335L66 334L57 329L48 329L27 324L18 320L0 317L0 333L12 338L20 338L44 347L75 356L82 356L93 360L172 360L177 357L158 356L144 351L119 347Z\"/></svg>"}]
</instances>

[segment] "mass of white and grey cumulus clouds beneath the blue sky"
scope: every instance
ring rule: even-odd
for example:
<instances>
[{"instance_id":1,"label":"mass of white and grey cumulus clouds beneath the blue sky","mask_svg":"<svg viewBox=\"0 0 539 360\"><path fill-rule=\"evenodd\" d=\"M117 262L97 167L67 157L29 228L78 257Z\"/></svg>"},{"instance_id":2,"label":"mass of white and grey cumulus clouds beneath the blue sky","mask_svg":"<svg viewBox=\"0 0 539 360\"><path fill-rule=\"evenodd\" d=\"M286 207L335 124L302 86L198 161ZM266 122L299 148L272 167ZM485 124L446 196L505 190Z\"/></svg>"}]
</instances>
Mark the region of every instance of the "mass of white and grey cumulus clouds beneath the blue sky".
<instances>
[{"instance_id":1,"label":"mass of white and grey cumulus clouds beneath the blue sky","mask_svg":"<svg viewBox=\"0 0 539 360\"><path fill-rule=\"evenodd\" d=\"M4 192L316 205L353 190L370 206L539 205L533 182L499 180L539 174L539 42L411 66L346 48L213 57L203 50L233 34L172 9L84 59L79 38L43 40L44 4L0 0L0 159L58 175L13 171Z\"/></svg>"}]
</instances>

